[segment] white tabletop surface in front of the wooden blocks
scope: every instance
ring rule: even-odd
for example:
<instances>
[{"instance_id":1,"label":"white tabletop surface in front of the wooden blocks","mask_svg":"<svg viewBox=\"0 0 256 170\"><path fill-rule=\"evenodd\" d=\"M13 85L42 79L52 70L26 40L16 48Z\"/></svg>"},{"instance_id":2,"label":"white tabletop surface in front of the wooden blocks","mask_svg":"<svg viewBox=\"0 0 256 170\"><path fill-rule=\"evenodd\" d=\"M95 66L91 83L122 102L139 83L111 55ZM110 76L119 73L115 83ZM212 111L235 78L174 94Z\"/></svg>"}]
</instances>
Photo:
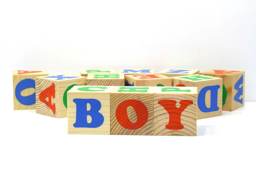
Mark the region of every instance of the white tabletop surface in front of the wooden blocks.
<instances>
[{"instance_id":1,"label":"white tabletop surface in front of the wooden blocks","mask_svg":"<svg viewBox=\"0 0 256 170\"><path fill-rule=\"evenodd\" d=\"M71 135L67 118L8 111L0 119L0 169L255 169L255 105L198 120L195 137Z\"/></svg>"}]
</instances>

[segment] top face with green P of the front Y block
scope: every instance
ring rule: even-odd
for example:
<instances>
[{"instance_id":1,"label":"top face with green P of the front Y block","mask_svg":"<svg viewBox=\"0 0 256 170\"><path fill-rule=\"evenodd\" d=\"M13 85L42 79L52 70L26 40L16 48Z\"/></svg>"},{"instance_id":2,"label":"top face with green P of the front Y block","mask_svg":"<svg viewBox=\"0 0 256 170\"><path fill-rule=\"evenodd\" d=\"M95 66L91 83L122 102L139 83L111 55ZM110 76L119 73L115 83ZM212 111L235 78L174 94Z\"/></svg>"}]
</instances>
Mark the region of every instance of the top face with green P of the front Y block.
<instances>
[{"instance_id":1,"label":"top face with green P of the front Y block","mask_svg":"<svg viewBox=\"0 0 256 170\"><path fill-rule=\"evenodd\" d=\"M197 87L157 87L157 94L197 94Z\"/></svg>"}]
</instances>

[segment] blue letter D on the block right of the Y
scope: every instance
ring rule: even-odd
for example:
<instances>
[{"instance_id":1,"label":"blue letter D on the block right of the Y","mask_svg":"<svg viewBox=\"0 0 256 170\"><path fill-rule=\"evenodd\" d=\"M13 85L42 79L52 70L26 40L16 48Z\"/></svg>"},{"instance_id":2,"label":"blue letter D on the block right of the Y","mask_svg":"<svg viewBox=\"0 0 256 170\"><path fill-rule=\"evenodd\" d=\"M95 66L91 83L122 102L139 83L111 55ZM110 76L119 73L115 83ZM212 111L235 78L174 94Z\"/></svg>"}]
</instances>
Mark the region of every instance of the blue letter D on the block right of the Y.
<instances>
[{"instance_id":1,"label":"blue letter D on the block right of the Y","mask_svg":"<svg viewBox=\"0 0 256 170\"><path fill-rule=\"evenodd\" d=\"M202 90L198 94L198 108L200 111L206 113L206 112L213 112L218 111L218 89L220 88L220 85L212 85L202 88ZM205 97L207 91L211 91L211 101L210 101L210 107L207 108L205 103Z\"/></svg>"}]
</instances>

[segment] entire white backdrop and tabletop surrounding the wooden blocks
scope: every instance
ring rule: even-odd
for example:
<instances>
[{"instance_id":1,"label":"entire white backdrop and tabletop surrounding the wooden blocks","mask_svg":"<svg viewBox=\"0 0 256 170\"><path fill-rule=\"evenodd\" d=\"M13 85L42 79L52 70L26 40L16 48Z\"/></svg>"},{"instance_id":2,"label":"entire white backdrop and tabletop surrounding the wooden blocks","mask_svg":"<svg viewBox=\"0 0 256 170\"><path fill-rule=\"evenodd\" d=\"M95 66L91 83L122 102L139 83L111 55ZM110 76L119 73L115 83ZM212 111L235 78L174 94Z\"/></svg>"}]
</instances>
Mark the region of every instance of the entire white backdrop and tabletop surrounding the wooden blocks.
<instances>
[{"instance_id":1,"label":"entire white backdrop and tabletop surrounding the wooden blocks","mask_svg":"<svg viewBox=\"0 0 256 170\"><path fill-rule=\"evenodd\" d=\"M197 137L67 135L66 118L12 111L17 69L244 70L256 101L255 30L255 0L0 0L0 169L255 167L253 103L198 120Z\"/></svg>"}]
</instances>

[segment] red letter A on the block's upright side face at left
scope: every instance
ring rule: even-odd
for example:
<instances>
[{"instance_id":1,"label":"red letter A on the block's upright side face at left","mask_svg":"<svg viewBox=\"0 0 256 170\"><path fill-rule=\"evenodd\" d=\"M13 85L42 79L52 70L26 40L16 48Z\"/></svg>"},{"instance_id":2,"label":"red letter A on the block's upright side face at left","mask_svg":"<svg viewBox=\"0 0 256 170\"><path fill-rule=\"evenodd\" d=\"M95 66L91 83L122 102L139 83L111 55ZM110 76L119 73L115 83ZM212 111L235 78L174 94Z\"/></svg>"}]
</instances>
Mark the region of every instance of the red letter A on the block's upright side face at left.
<instances>
[{"instance_id":1,"label":"red letter A on the block's upright side face at left","mask_svg":"<svg viewBox=\"0 0 256 170\"><path fill-rule=\"evenodd\" d=\"M46 100L47 97L48 97L48 102ZM55 98L55 84L54 83L52 83L51 86L44 89L44 91L42 91L39 94L39 100L41 102L43 102L44 104L46 104L53 111L53 114L55 114L56 108L55 108L55 103L53 103L53 105L52 105L52 97L53 97L53 99Z\"/></svg>"}]
</instances>

